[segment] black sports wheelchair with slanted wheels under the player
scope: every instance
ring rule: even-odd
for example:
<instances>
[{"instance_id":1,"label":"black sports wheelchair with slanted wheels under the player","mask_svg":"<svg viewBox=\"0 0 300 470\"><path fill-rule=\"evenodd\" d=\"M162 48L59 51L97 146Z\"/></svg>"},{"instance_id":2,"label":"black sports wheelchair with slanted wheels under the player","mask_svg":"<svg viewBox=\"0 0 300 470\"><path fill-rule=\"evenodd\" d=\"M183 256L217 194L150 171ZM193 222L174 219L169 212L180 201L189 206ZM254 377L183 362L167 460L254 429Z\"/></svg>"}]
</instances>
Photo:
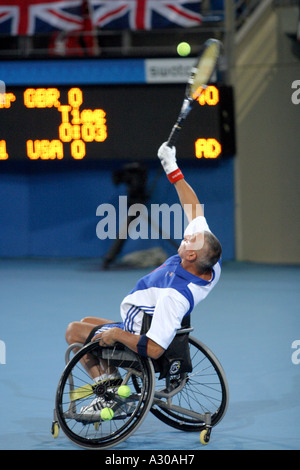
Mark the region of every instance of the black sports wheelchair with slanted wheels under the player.
<instances>
[{"instance_id":1,"label":"black sports wheelchair with slanted wheels under the player","mask_svg":"<svg viewBox=\"0 0 300 470\"><path fill-rule=\"evenodd\" d=\"M179 329L157 361L139 356L121 344L101 347L98 342L91 342L69 346L56 392L53 437L58 437L61 428L79 447L109 449L128 439L150 411L173 428L200 432L200 442L208 444L212 428L226 413L228 385L220 362L190 335L192 331L191 327ZM77 352L70 358L75 349ZM90 354L117 368L118 381L91 383L82 365ZM121 385L127 386L128 396L118 393ZM82 413L99 397L112 404L112 419L102 419L100 411Z\"/></svg>"}]
</instances>

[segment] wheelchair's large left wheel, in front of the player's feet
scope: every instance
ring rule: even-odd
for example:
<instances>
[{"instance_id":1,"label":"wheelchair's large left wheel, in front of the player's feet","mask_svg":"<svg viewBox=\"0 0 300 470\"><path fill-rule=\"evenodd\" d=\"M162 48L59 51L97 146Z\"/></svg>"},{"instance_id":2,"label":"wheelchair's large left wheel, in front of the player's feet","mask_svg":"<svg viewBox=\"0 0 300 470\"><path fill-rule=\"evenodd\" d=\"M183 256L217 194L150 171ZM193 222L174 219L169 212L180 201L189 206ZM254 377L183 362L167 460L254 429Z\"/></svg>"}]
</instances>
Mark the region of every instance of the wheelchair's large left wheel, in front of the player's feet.
<instances>
[{"instance_id":1,"label":"wheelchair's large left wheel, in front of the player's feet","mask_svg":"<svg viewBox=\"0 0 300 470\"><path fill-rule=\"evenodd\" d=\"M95 356L117 369L120 377L93 383L83 363ZM120 396L121 385L127 386L125 397L124 393ZM57 387L55 414L63 432L78 446L108 449L128 439L140 426L151 408L154 390L150 359L121 345L101 348L98 343L90 343L65 367Z\"/></svg>"}]
</instances>

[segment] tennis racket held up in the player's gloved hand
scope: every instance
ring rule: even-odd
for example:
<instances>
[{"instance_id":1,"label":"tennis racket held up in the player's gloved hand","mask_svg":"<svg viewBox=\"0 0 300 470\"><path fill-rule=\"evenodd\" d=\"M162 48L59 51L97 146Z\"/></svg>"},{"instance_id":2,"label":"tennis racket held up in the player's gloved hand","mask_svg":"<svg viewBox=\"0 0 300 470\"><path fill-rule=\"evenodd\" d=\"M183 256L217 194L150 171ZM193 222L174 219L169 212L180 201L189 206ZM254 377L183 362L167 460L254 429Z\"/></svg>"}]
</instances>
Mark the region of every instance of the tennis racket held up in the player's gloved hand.
<instances>
[{"instance_id":1,"label":"tennis racket held up in the player's gloved hand","mask_svg":"<svg viewBox=\"0 0 300 470\"><path fill-rule=\"evenodd\" d=\"M175 145L183 123L191 111L194 102L209 83L218 63L221 46L222 43L217 39L208 39L204 43L204 48L198 58L198 62L191 70L180 113L167 141L168 147Z\"/></svg>"}]
</instances>

